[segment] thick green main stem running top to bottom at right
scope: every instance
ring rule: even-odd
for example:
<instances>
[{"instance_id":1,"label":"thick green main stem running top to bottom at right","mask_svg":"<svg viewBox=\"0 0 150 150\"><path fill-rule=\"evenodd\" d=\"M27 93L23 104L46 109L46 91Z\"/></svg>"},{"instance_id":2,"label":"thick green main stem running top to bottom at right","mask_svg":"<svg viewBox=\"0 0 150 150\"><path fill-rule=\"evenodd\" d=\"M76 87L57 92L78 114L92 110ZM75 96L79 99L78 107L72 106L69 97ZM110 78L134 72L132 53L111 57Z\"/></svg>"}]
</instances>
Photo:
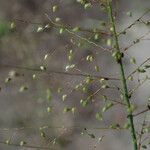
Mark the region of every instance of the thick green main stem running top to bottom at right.
<instances>
[{"instance_id":1,"label":"thick green main stem running top to bottom at right","mask_svg":"<svg viewBox=\"0 0 150 150\"><path fill-rule=\"evenodd\" d=\"M110 0L107 0L107 4L108 4L108 13L110 16L110 21L111 21L112 29L113 29L113 35L115 38L116 51L121 54L119 41L118 41L118 35L116 32L115 20L114 20L114 16L113 16L113 12L112 12L112 3L110 2ZM130 132L131 132L131 136L132 136L134 150L138 150L136 131L135 131L135 127L134 127L133 114L132 114L132 109L131 109L127 81L126 81L125 72L124 72L124 65L122 63L122 57L120 57L118 64L120 66L120 75L121 75L120 79L121 79L122 86L123 86L124 100L126 101L127 109L129 110L128 119L129 119L129 123L130 123L130 129L131 129Z\"/></svg>"}]
</instances>

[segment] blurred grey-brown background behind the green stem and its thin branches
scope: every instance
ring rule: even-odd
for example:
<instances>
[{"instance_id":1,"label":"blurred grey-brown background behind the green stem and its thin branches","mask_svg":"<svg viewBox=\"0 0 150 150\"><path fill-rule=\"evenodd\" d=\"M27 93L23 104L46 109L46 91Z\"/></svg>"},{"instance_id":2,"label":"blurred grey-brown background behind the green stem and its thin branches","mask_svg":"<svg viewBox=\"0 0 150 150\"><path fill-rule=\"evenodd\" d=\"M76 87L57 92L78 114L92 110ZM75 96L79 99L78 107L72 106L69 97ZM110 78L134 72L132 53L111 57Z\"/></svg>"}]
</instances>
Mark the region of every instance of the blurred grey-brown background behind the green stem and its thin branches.
<instances>
[{"instance_id":1,"label":"blurred grey-brown background behind the green stem and its thin branches","mask_svg":"<svg viewBox=\"0 0 150 150\"><path fill-rule=\"evenodd\" d=\"M86 29L79 35L110 48L112 37L107 14L96 1L92 4L85 10L75 0L0 0L1 150L32 149L8 146L3 141L16 144L24 141L25 145L41 150L42 147L65 150L132 149L129 131L104 129L111 124L123 126L127 122L122 105L114 103L100 121L99 112L105 105L103 99L107 97L121 102L120 93L115 88L121 86L118 80L106 81L112 88L98 91L92 96L92 102L84 107L86 98L103 83L94 80L86 84L87 77L72 75L86 73L119 78L119 68L111 54L72 34L60 34L63 29L49 24L51 18L72 28L79 26ZM53 12L56 5L58 10ZM116 0L114 7L118 31L122 31L150 8L150 1ZM149 16L150 13L147 13L142 20L148 21ZM46 25L47 28L43 28ZM93 35L89 32L90 28L102 32ZM150 38L149 29L144 23L135 24L126 35L120 36L122 48L143 35L143 39ZM150 56L149 47L149 40L141 40L128 49L124 62L127 75ZM71 61L68 60L70 55L73 55ZM87 56L92 56L94 60L88 61ZM133 57L137 64L131 65ZM68 67L71 69L66 71ZM143 76L145 74L137 74L135 80L129 82L129 89L136 87ZM146 108L149 87L150 83L146 82L133 94L132 101L138 108L137 112ZM137 129L140 129L143 118L144 114L135 118ZM147 113L146 121L149 119Z\"/></svg>"}]
</instances>

